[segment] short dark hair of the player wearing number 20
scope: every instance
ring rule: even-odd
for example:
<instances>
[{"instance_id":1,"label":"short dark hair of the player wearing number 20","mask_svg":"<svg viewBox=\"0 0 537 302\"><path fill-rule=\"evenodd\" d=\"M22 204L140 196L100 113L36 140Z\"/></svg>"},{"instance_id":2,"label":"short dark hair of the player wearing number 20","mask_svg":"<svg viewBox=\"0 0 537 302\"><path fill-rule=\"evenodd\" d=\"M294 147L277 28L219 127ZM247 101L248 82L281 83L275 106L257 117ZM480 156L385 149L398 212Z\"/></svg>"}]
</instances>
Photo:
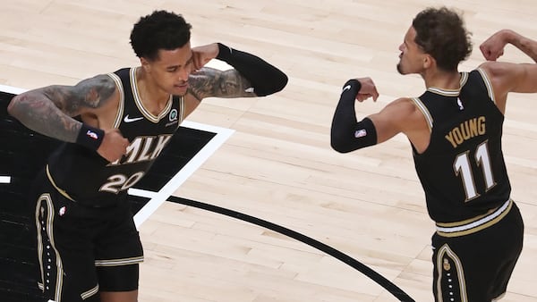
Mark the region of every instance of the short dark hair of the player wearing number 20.
<instances>
[{"instance_id":1,"label":"short dark hair of the player wearing number 20","mask_svg":"<svg viewBox=\"0 0 537 302\"><path fill-rule=\"evenodd\" d=\"M180 14L155 11L141 17L131 31L131 46L139 58L158 59L158 50L174 50L185 46L191 37L192 25Z\"/></svg>"}]
</instances>

